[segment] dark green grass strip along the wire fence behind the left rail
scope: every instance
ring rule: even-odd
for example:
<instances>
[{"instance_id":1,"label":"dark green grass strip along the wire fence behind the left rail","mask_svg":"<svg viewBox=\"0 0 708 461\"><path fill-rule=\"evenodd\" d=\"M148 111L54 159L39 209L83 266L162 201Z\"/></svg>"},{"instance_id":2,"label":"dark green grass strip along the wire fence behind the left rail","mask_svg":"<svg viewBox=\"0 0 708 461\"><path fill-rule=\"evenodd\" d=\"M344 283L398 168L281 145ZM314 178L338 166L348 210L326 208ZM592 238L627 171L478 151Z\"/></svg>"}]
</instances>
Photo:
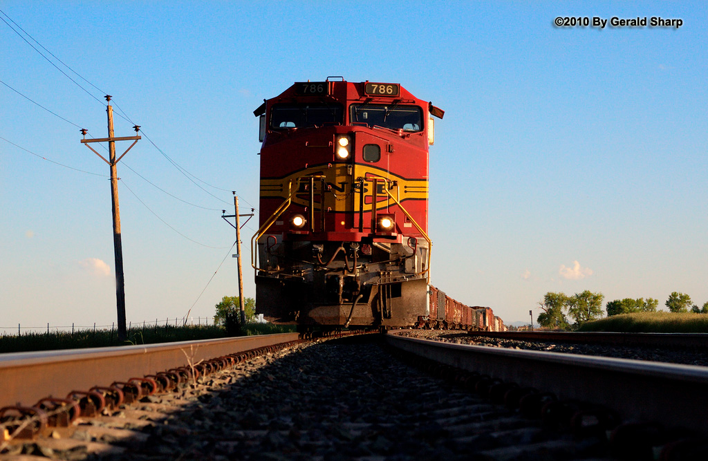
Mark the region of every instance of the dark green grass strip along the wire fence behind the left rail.
<instances>
[{"instance_id":1,"label":"dark green grass strip along the wire fence behind the left rail","mask_svg":"<svg viewBox=\"0 0 708 461\"><path fill-rule=\"evenodd\" d=\"M295 331L295 326L292 325L246 324L238 336L290 333L292 331ZM128 330L127 336L127 341L118 341L117 332L110 330L81 330L76 331L74 334L58 331L50 334L30 333L21 336L0 336L0 353L171 343L174 341L227 338L234 335L227 334L227 330L222 326L210 325L132 328Z\"/></svg>"}]
</instances>

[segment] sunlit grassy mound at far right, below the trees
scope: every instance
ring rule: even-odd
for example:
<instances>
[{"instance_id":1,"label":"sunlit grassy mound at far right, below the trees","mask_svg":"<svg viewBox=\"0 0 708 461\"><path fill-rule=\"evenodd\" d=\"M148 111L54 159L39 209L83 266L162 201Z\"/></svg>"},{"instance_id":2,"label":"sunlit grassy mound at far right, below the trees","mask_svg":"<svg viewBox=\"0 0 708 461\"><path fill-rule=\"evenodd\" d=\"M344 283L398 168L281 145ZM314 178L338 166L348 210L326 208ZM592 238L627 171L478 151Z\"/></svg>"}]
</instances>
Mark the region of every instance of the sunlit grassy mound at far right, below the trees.
<instances>
[{"instance_id":1,"label":"sunlit grassy mound at far right, below the trees","mask_svg":"<svg viewBox=\"0 0 708 461\"><path fill-rule=\"evenodd\" d=\"M708 333L708 314L637 312L588 321L578 331L626 333Z\"/></svg>"}]
</instances>

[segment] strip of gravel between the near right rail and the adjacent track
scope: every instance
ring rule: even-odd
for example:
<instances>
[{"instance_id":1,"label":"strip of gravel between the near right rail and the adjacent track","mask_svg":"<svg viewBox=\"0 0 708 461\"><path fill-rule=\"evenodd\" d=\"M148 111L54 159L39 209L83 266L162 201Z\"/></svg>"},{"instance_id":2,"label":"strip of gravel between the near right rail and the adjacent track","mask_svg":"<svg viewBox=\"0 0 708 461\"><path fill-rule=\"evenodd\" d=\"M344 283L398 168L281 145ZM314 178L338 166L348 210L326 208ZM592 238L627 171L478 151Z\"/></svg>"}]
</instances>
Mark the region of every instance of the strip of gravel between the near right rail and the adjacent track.
<instances>
[{"instance_id":1,"label":"strip of gravel between the near right rail and the adjacent track","mask_svg":"<svg viewBox=\"0 0 708 461\"><path fill-rule=\"evenodd\" d=\"M401 336L432 339L456 344L472 344L531 351L548 351L580 355L599 355L601 357L629 358L633 360L651 360L653 362L683 363L685 365L708 366L708 352L704 350L680 350L661 348L640 348L627 346L603 346L590 344L553 343L547 341L518 341L514 339L487 338L474 336L467 331L445 330L404 330Z\"/></svg>"}]
</instances>

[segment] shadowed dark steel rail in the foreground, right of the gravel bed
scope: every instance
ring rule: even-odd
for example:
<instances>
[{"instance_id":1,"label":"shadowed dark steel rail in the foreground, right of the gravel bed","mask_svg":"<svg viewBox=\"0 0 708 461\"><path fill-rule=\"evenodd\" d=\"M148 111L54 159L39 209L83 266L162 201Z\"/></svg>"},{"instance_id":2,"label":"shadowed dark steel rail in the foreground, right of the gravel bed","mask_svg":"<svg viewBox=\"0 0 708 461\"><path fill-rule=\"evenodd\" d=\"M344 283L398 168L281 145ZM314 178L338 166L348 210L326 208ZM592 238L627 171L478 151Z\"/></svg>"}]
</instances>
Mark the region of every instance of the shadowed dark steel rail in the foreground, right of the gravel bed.
<instances>
[{"instance_id":1,"label":"shadowed dark steel rail in the foreground, right of the gravel bed","mask_svg":"<svg viewBox=\"0 0 708 461\"><path fill-rule=\"evenodd\" d=\"M708 367L469 346L389 332L389 345L561 400L601 404L624 421L661 421L708 435Z\"/></svg>"}]
</instances>

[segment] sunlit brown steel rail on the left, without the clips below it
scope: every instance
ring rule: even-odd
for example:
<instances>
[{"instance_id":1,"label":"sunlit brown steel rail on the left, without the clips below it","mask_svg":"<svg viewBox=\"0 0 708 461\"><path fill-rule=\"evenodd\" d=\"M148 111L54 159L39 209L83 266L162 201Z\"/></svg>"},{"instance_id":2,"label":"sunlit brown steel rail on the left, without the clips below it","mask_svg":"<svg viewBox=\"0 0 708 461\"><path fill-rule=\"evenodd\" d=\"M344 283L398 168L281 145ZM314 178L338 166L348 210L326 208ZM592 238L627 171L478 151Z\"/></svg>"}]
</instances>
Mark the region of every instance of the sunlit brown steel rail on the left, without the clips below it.
<instances>
[{"instance_id":1,"label":"sunlit brown steel rail on the left, without the clips below it","mask_svg":"<svg viewBox=\"0 0 708 461\"><path fill-rule=\"evenodd\" d=\"M201 360L296 341L297 333L176 343L0 354L0 407L142 377Z\"/></svg>"}]
</instances>

